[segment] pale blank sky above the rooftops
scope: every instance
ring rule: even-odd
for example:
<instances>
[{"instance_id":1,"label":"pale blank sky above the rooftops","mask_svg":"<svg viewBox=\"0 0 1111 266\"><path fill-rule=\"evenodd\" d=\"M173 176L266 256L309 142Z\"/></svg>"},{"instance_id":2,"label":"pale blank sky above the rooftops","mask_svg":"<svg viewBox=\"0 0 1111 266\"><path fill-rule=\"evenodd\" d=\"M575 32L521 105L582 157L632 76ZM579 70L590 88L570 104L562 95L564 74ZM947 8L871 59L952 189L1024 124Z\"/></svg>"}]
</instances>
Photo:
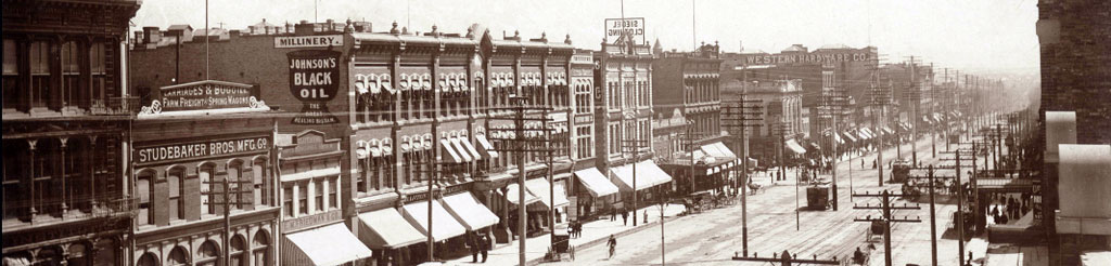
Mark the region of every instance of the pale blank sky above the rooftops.
<instances>
[{"instance_id":1,"label":"pale blank sky above the rooftops","mask_svg":"<svg viewBox=\"0 0 1111 266\"><path fill-rule=\"evenodd\" d=\"M220 0L208 4L212 28L270 23L369 21L374 32L392 22L410 31L432 25L466 33L472 23L491 33L562 41L599 49L607 18L644 18L649 42L690 51L718 42L724 52L775 53L791 44L873 45L885 62L915 61L971 73L1037 74L1040 64L1037 0ZM622 8L623 6L623 8ZM314 11L316 10L316 11ZM622 12L623 10L623 12ZM202 0L144 0L134 28L204 28Z\"/></svg>"}]
</instances>

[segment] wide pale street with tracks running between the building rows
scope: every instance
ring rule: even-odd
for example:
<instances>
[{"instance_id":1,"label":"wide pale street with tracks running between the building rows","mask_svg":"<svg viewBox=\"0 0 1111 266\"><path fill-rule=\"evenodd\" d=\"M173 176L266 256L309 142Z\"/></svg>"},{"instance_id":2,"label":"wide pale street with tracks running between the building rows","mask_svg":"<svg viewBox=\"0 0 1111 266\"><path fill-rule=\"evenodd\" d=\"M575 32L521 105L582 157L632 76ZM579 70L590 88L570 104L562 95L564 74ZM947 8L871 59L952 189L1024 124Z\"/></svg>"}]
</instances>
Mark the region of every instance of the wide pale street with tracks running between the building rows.
<instances>
[{"instance_id":1,"label":"wide pale street with tracks running between the building rows","mask_svg":"<svg viewBox=\"0 0 1111 266\"><path fill-rule=\"evenodd\" d=\"M909 145L904 145L903 155L909 156ZM930 156L929 139L920 139L918 142L919 160L923 164L937 164L938 160ZM889 160L895 154L894 147L889 147L884 152L884 160ZM940 154L939 154L940 156ZM877 183L877 171L870 168L870 162L875 157L874 153L863 156L869 168L859 170L860 157L853 157L852 190L861 192L879 192ZM853 217L868 215L878 216L880 211L874 209L852 209L853 203L872 203L879 201L874 198L854 198L850 202L849 188L849 162L841 162L838 165L839 180L839 211L803 211L801 212L801 229L794 228L794 174L787 182L778 182L763 193L749 196L749 252L755 253L760 257L768 257L772 253L782 253L784 249L803 257L810 258L817 255L818 258L829 259L832 257L851 257L855 247L867 246L865 229L868 223L853 222ZM888 170L884 170L888 171ZM755 175L758 183L768 181L767 175ZM892 192L899 191L899 184L885 184L883 188ZM801 193L804 193L802 191ZM805 195L800 194L801 204L805 204ZM902 204L902 201L898 201ZM893 263L904 265L914 263L928 265L930 263L930 229L929 229L929 205L922 204L921 211L901 211L898 216L921 216L922 223L918 224L895 224L892 227ZM939 265L957 264L957 242L954 231L947 231L950 213L955 211L954 203L938 203L938 256ZM761 265L761 263L742 263L731 260L734 253L741 252L741 206L740 204L680 217L665 225L667 238L667 264L699 264L699 265ZM879 236L874 242L877 252L871 256L871 265L883 265L882 241ZM645 265L660 264L660 232L658 229L645 229L633 233L617 239L617 252L612 258L607 258L608 248L604 243L579 249L575 260L557 265L581 265L583 263L600 263L607 265ZM867 249L867 248L862 248ZM982 255L979 255L982 256Z\"/></svg>"}]
</instances>

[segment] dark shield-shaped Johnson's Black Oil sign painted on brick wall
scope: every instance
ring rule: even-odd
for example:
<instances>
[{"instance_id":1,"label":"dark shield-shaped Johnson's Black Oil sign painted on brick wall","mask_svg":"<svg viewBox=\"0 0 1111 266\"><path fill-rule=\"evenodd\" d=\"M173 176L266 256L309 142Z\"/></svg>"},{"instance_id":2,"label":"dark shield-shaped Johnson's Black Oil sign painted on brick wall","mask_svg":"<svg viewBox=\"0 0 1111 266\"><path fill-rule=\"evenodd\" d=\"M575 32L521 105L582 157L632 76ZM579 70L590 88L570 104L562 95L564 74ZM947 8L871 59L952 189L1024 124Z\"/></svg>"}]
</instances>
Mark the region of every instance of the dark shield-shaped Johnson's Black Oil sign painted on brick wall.
<instances>
[{"instance_id":1,"label":"dark shield-shaped Johnson's Black Oil sign painted on brick wall","mask_svg":"<svg viewBox=\"0 0 1111 266\"><path fill-rule=\"evenodd\" d=\"M340 52L304 50L289 57L289 90L301 101L301 113L293 124L334 124L339 119L328 111L327 103L339 92Z\"/></svg>"}]
</instances>

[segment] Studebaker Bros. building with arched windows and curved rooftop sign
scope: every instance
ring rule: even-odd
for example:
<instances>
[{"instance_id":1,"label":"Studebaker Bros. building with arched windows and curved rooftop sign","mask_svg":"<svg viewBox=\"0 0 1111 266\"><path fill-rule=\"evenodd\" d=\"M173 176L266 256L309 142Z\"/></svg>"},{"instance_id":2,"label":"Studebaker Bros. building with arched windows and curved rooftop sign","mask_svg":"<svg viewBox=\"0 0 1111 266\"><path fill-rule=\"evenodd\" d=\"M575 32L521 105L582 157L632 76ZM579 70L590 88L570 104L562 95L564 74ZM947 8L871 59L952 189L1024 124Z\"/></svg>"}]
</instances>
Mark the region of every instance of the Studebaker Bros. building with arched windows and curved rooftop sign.
<instances>
[{"instance_id":1,"label":"Studebaker Bros. building with arched windows and curved rooftop sign","mask_svg":"<svg viewBox=\"0 0 1111 266\"><path fill-rule=\"evenodd\" d=\"M134 265L274 265L274 120L259 86L150 91L131 127Z\"/></svg>"}]
</instances>

